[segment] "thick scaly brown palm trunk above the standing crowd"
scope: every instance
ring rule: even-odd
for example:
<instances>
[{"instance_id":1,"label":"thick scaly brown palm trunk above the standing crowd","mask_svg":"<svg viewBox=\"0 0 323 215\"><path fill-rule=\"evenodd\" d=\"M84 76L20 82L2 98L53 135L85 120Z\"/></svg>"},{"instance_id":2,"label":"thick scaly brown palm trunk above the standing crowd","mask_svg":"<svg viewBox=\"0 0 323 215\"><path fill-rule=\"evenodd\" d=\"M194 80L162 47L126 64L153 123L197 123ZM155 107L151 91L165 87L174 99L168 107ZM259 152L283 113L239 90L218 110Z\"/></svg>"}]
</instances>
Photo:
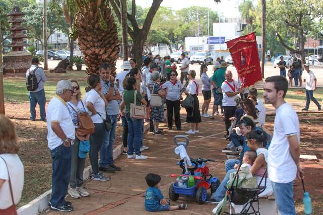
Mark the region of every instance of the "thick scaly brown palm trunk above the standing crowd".
<instances>
[{"instance_id":1,"label":"thick scaly brown palm trunk above the standing crowd","mask_svg":"<svg viewBox=\"0 0 323 215\"><path fill-rule=\"evenodd\" d=\"M107 62L116 70L119 54L117 26L107 0L73 0L78 12L74 17L70 36L78 39L88 74L98 73ZM71 1L72 2L72 1Z\"/></svg>"}]
</instances>

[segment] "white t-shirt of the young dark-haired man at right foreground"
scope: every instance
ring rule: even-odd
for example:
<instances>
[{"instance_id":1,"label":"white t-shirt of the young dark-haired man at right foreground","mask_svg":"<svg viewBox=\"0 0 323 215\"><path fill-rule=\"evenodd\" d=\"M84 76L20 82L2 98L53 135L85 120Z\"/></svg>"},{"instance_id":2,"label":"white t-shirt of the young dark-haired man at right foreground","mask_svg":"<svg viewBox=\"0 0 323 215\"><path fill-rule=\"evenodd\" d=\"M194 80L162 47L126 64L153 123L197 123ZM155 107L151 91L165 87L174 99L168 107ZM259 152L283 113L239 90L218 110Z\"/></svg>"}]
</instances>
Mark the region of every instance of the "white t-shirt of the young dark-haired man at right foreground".
<instances>
[{"instance_id":1,"label":"white t-shirt of the young dark-haired man at right foreground","mask_svg":"<svg viewBox=\"0 0 323 215\"><path fill-rule=\"evenodd\" d=\"M282 104L276 110L274 134L268 149L268 173L271 181L289 183L296 178L297 167L289 151L288 136L297 135L298 116L290 104Z\"/></svg>"}]
</instances>

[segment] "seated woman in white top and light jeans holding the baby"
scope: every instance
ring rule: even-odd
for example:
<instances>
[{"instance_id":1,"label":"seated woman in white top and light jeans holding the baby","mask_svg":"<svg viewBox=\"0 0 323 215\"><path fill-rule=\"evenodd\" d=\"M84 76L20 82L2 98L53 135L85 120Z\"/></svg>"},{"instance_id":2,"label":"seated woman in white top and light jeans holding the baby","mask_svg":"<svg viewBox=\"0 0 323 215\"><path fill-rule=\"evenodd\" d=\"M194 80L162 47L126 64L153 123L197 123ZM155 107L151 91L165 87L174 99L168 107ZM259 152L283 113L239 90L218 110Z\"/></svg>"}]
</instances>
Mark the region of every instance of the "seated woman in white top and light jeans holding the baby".
<instances>
[{"instance_id":1,"label":"seated woman in white top and light jeans holding the baby","mask_svg":"<svg viewBox=\"0 0 323 215\"><path fill-rule=\"evenodd\" d=\"M247 139L247 146L252 151L248 151L244 154L242 159L242 165L246 163L245 155L249 154L250 152L256 152L256 158L254 160L254 163L252 167L250 168L250 172L252 175L254 175L257 178L257 183L259 184L266 169L267 169L267 160L268 160L268 150L265 148L267 145L267 133L262 130L252 130L246 135ZM249 163L250 164L250 163ZM219 187L217 188L216 192L212 194L212 199L214 199L214 202L219 202L224 198L224 195L226 193L226 185L229 182L230 174L235 172L235 169L239 168L239 164L235 164L234 169L227 171L227 174ZM261 181L261 186L264 186L265 180ZM267 178L266 182L267 188L264 192L261 193L261 196L267 196L271 195L273 193L273 189L271 186L271 183L269 179ZM212 201L212 199L210 199Z\"/></svg>"}]
</instances>

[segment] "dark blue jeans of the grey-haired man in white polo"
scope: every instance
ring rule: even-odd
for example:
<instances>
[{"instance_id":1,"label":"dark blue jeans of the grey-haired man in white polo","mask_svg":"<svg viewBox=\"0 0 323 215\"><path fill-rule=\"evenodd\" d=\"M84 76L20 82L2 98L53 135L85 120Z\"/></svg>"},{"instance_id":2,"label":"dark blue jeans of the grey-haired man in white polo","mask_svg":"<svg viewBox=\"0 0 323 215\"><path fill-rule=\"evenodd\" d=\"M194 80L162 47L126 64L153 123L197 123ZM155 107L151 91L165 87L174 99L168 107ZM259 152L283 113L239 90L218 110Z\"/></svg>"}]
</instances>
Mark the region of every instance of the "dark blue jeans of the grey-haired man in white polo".
<instances>
[{"instance_id":1,"label":"dark blue jeans of the grey-haired man in white polo","mask_svg":"<svg viewBox=\"0 0 323 215\"><path fill-rule=\"evenodd\" d=\"M66 204L65 195L70 181L71 173L71 147L63 144L50 150L52 158L52 193L50 202L53 206Z\"/></svg>"}]
</instances>

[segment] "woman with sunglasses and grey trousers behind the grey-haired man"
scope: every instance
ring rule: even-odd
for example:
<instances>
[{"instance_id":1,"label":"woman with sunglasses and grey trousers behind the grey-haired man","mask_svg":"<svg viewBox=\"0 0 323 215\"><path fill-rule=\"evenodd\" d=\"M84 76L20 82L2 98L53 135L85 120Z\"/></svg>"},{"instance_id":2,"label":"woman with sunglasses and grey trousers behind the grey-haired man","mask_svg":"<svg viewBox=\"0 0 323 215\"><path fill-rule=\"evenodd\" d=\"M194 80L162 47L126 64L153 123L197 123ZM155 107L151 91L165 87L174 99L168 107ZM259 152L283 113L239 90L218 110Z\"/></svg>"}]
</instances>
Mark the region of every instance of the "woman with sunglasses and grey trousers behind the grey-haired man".
<instances>
[{"instance_id":1,"label":"woman with sunglasses and grey trousers behind the grey-haired man","mask_svg":"<svg viewBox=\"0 0 323 215\"><path fill-rule=\"evenodd\" d=\"M71 145L72 148L72 158L71 158L71 176L70 176L70 189L68 193L72 198L80 198L81 196L89 196L89 193L82 187L83 185L83 171L85 167L86 154L84 158L79 157L79 147L80 141L88 141L90 134L86 136L80 136L77 134L76 130L79 127L78 114L87 113L86 104L81 100L81 90L80 85L77 80L70 80L73 85L73 94L71 100L66 104L69 109L72 122L75 127L75 139L74 144Z\"/></svg>"}]
</instances>

